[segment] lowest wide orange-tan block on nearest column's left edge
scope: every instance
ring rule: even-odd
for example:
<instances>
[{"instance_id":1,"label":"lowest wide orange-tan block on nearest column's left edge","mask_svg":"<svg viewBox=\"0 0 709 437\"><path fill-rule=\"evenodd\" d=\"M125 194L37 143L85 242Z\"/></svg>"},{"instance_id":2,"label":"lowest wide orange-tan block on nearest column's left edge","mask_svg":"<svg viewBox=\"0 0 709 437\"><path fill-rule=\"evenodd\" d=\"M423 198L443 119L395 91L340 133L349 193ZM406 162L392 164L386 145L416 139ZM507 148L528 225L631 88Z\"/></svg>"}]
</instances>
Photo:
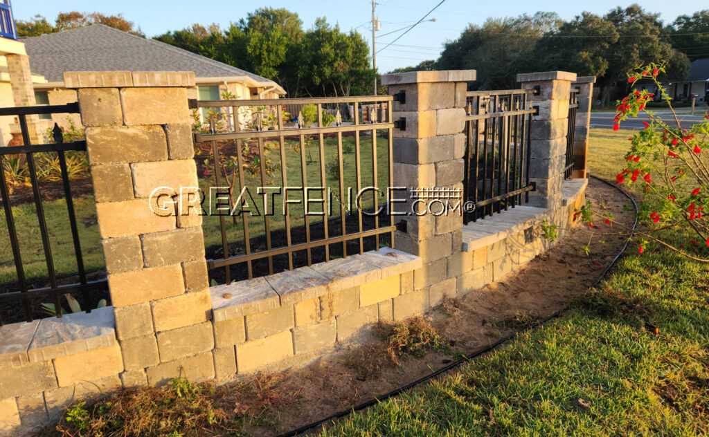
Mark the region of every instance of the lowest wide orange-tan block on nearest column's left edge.
<instances>
[{"instance_id":1,"label":"lowest wide orange-tan block on nearest column's left edge","mask_svg":"<svg viewBox=\"0 0 709 437\"><path fill-rule=\"evenodd\" d=\"M179 264L108 275L113 307L125 307L184 293Z\"/></svg>"}]
</instances>

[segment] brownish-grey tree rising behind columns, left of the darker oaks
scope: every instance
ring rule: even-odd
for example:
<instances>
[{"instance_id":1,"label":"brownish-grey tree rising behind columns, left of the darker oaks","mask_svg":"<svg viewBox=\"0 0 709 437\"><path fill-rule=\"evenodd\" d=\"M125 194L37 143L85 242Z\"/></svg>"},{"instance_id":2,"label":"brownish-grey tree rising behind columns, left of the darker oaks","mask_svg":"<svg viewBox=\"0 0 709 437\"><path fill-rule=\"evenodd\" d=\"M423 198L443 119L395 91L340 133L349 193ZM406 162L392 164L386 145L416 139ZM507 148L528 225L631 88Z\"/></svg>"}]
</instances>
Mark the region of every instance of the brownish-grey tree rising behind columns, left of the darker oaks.
<instances>
[{"instance_id":1,"label":"brownish-grey tree rising behind columns, left of the darker oaks","mask_svg":"<svg viewBox=\"0 0 709 437\"><path fill-rule=\"evenodd\" d=\"M482 25L469 24L457 40L445 42L438 69L476 69L477 89L515 86L515 74L533 65L537 40L561 24L552 12L533 16L488 18Z\"/></svg>"}]
</instances>

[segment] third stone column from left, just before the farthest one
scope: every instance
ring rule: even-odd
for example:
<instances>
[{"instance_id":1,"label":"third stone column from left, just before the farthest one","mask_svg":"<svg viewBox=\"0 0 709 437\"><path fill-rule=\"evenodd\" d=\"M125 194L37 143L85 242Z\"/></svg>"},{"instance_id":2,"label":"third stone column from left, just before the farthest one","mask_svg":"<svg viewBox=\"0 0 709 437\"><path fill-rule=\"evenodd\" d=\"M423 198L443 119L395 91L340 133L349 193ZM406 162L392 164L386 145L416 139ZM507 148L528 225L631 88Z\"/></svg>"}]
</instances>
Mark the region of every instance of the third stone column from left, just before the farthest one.
<instances>
[{"instance_id":1,"label":"third stone column from left, just before the farthest one","mask_svg":"<svg viewBox=\"0 0 709 437\"><path fill-rule=\"evenodd\" d=\"M563 200L566 130L569 122L569 93L576 74L543 72L518 74L522 89L539 86L540 92L530 96L539 114L530 125L530 178L537 184L530 193L530 206L560 208Z\"/></svg>"}]
</instances>

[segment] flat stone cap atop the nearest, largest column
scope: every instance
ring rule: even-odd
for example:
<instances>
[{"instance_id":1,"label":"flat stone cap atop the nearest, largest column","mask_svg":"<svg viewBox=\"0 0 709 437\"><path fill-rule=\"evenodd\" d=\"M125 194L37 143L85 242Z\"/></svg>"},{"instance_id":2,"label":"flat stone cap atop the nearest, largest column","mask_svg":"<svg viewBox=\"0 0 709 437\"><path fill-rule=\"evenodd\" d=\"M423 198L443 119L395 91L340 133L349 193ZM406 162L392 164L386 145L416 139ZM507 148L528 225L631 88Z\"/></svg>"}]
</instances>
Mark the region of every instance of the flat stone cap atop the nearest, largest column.
<instances>
[{"instance_id":1,"label":"flat stone cap atop the nearest, largest column","mask_svg":"<svg viewBox=\"0 0 709 437\"><path fill-rule=\"evenodd\" d=\"M67 88L194 86L194 72L65 72Z\"/></svg>"}]
</instances>

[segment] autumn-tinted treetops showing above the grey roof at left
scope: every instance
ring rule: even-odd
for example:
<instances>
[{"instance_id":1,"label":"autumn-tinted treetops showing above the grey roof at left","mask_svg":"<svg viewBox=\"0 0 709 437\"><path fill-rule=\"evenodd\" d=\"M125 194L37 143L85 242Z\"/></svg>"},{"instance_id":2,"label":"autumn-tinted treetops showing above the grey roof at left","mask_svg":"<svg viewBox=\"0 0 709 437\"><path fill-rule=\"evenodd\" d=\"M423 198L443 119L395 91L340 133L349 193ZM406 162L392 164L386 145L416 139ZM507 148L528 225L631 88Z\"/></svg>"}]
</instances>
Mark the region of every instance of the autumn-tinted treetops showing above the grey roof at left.
<instances>
[{"instance_id":1,"label":"autumn-tinted treetops showing above the grey roof at left","mask_svg":"<svg viewBox=\"0 0 709 437\"><path fill-rule=\"evenodd\" d=\"M123 32L132 33L145 38L145 34L140 28L135 28L133 21L128 21L123 18L123 15L105 15L100 12L82 13L77 11L60 12L57 15L55 24L49 23L47 18L36 15L28 21L16 21L18 36L40 36L45 33L56 33L67 29L83 28L91 24L104 24L109 27L123 30Z\"/></svg>"}]
</instances>

